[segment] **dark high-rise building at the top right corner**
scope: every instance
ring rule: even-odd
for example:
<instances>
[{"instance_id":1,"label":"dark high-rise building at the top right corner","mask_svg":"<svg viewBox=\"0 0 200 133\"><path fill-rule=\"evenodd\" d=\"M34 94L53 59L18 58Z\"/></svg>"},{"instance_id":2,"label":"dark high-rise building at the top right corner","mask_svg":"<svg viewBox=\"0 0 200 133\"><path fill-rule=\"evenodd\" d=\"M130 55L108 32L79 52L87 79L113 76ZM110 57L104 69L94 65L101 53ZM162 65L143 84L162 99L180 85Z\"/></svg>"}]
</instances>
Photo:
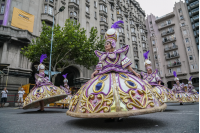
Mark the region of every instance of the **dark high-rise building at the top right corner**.
<instances>
[{"instance_id":1,"label":"dark high-rise building at the top right corner","mask_svg":"<svg viewBox=\"0 0 200 133\"><path fill-rule=\"evenodd\" d=\"M199 0L185 0L189 13L194 38L199 50Z\"/></svg>"}]
</instances>

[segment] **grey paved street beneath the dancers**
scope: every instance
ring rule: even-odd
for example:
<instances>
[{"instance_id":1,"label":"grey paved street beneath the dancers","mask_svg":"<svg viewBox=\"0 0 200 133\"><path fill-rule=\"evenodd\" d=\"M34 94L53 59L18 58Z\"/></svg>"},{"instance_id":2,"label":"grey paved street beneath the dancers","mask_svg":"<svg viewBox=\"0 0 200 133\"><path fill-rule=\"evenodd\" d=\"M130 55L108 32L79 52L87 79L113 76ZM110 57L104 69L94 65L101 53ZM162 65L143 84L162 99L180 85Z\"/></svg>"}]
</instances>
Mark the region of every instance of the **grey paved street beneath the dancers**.
<instances>
[{"instance_id":1,"label":"grey paved street beneath the dancers","mask_svg":"<svg viewBox=\"0 0 200 133\"><path fill-rule=\"evenodd\" d=\"M0 133L198 133L199 104L168 104L165 112L125 118L105 123L105 119L79 119L65 114L67 109L22 110L0 108Z\"/></svg>"}]
</instances>

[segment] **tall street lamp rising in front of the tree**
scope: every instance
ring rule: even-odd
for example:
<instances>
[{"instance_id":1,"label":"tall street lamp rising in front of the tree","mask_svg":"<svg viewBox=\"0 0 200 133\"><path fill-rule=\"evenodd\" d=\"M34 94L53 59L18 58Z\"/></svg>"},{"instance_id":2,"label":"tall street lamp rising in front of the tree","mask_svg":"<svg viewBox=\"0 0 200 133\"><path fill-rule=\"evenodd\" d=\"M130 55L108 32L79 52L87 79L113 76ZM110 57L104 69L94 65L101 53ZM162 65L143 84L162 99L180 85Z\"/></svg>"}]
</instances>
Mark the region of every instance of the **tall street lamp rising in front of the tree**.
<instances>
[{"instance_id":1,"label":"tall street lamp rising in front of the tree","mask_svg":"<svg viewBox=\"0 0 200 133\"><path fill-rule=\"evenodd\" d=\"M59 13L65 10L65 7L60 7L59 11L53 15L53 26L52 26L52 35L51 35L51 50L50 50L50 61L49 61L49 81L51 80L51 54L52 54L52 44L53 44L53 29L54 29L54 17Z\"/></svg>"}]
</instances>

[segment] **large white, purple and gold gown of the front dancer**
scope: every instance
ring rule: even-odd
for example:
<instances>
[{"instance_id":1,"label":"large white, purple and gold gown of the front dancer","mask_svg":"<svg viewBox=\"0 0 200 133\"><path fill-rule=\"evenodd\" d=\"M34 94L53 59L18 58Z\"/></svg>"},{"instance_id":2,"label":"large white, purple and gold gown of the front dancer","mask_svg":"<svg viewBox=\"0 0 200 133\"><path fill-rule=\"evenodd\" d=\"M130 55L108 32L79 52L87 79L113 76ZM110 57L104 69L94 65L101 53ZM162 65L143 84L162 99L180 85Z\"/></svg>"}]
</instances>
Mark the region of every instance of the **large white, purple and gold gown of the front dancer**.
<instances>
[{"instance_id":1,"label":"large white, purple and gold gown of the front dancer","mask_svg":"<svg viewBox=\"0 0 200 133\"><path fill-rule=\"evenodd\" d=\"M159 101L146 84L129 72L129 46L114 52L95 51L99 58L98 74L73 96L67 115L80 118L127 117L163 111Z\"/></svg>"}]
</instances>

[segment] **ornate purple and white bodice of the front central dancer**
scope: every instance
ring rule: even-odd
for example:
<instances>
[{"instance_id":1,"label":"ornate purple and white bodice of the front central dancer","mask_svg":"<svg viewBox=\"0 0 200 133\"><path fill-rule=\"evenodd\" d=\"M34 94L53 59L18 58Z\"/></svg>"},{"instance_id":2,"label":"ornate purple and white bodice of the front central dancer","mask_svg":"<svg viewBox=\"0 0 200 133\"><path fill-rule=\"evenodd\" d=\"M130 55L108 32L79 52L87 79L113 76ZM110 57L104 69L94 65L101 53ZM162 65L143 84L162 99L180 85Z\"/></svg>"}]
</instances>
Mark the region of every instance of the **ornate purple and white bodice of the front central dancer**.
<instances>
[{"instance_id":1,"label":"ornate purple and white bodice of the front central dancer","mask_svg":"<svg viewBox=\"0 0 200 133\"><path fill-rule=\"evenodd\" d=\"M98 75L110 71L129 73L125 69L132 64L127 57L128 49L129 46L126 45L114 52L101 52L96 50L95 54L99 57L99 63L96 66L96 70L99 70Z\"/></svg>"}]
</instances>

